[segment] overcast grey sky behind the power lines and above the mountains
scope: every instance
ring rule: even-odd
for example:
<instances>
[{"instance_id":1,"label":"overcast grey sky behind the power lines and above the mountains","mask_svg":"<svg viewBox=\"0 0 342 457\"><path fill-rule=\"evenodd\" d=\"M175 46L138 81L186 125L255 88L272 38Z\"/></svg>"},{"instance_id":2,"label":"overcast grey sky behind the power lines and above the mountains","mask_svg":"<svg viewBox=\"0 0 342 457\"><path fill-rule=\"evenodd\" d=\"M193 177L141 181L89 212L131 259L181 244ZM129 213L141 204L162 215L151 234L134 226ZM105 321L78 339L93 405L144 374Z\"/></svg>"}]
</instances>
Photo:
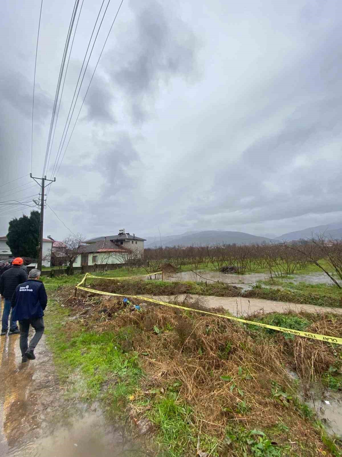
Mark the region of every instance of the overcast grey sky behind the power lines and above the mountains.
<instances>
[{"instance_id":1,"label":"overcast grey sky behind the power lines and above the mountains","mask_svg":"<svg viewBox=\"0 0 342 457\"><path fill-rule=\"evenodd\" d=\"M34 176L73 3L43 1ZM101 3L83 3L48 177ZM74 120L119 3L110 1ZM1 202L39 191L29 177L39 9L40 0L2 1L0 185L26 177L0 187ZM342 220L341 49L340 0L124 0L48 205L87 238L120 228L280 235ZM31 209L5 208L0 235ZM68 234L49 208L44 222L44 236Z\"/></svg>"}]
</instances>

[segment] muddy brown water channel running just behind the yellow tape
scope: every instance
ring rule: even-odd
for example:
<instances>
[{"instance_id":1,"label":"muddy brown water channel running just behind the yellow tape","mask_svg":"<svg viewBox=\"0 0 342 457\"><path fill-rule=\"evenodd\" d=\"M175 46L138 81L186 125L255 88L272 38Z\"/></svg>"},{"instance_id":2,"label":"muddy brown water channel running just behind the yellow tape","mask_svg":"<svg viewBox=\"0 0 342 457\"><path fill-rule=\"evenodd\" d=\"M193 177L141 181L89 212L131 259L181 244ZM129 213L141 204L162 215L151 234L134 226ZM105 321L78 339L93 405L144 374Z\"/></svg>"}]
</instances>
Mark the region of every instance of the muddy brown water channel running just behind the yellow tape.
<instances>
[{"instance_id":1,"label":"muddy brown water channel running just behind the yellow tape","mask_svg":"<svg viewBox=\"0 0 342 457\"><path fill-rule=\"evenodd\" d=\"M147 295L146 295L147 297ZM191 295L192 298L201 298L204 303L210 308L222 306L235 316L253 314L255 311L263 310L265 313L284 313L285 311L306 311L308 313L335 313L342 314L342 308L327 308L323 306L305 305L300 303L274 302L272 300L264 300L262 298L240 298L240 297L215 297L212 295ZM170 295L170 296L154 296L153 298L171 303L175 298L180 302L184 300L185 295Z\"/></svg>"}]
</instances>

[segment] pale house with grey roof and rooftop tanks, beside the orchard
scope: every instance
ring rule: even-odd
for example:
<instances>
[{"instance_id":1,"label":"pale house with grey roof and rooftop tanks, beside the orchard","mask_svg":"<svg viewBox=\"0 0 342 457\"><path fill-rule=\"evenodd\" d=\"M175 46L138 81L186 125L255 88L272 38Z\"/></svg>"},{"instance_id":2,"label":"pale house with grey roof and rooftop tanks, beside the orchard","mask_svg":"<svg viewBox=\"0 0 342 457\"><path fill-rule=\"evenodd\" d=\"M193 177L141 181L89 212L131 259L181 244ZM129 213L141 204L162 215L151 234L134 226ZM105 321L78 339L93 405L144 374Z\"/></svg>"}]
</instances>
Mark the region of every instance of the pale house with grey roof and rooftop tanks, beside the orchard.
<instances>
[{"instance_id":1,"label":"pale house with grey roof and rooftop tanks, beside the orchard","mask_svg":"<svg viewBox=\"0 0 342 457\"><path fill-rule=\"evenodd\" d=\"M120 230L117 235L100 236L84 241L80 255L73 266L126 263L131 251L141 257L144 253L144 238Z\"/></svg>"}]
</instances>

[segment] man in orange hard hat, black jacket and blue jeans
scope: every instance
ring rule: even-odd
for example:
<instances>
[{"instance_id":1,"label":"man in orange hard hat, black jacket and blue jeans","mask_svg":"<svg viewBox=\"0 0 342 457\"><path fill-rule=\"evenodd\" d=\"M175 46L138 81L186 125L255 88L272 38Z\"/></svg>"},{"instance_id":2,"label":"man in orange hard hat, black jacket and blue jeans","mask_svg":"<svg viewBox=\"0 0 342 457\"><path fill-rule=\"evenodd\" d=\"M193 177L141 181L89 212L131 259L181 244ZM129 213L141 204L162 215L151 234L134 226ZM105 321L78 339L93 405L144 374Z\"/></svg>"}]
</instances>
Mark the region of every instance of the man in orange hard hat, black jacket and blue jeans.
<instances>
[{"instance_id":1,"label":"man in orange hard hat, black jacket and blue jeans","mask_svg":"<svg viewBox=\"0 0 342 457\"><path fill-rule=\"evenodd\" d=\"M21 268L23 260L21 257L16 257L12 262L12 267L2 273L0 277L0 294L5 298L4 310L2 312L2 328L0 335L6 335L8 330L8 318L10 317L9 335L20 333L16 319L13 318L13 313L10 316L10 300L16 287L21 282L27 280L26 272Z\"/></svg>"}]
</instances>

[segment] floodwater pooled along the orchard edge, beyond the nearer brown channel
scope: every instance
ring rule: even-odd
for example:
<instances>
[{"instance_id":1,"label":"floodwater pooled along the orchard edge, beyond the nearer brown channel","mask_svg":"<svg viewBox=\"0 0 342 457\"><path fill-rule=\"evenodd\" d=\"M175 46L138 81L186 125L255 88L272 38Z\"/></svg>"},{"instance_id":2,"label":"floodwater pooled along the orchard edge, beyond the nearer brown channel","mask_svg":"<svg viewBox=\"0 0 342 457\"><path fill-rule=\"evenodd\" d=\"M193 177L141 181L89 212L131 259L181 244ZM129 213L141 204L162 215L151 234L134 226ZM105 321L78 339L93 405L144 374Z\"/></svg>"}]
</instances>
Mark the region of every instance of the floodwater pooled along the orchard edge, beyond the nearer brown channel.
<instances>
[{"instance_id":1,"label":"floodwater pooled along the orchard edge, beyond the nearer brown channel","mask_svg":"<svg viewBox=\"0 0 342 457\"><path fill-rule=\"evenodd\" d=\"M181 271L179 273L165 273L164 280L166 281L195 281L208 282L220 281L232 286L241 287L243 291L251 289L258 281L265 281L270 278L269 273L250 273L246 275L224 274L220 271L202 271L198 270L198 274L192 271ZM333 284L332 280L325 273L311 273L308 275L294 275L290 278L283 278L289 282L306 282L306 284ZM268 286L272 287L272 286ZM277 286L279 287L279 286Z\"/></svg>"}]
</instances>

